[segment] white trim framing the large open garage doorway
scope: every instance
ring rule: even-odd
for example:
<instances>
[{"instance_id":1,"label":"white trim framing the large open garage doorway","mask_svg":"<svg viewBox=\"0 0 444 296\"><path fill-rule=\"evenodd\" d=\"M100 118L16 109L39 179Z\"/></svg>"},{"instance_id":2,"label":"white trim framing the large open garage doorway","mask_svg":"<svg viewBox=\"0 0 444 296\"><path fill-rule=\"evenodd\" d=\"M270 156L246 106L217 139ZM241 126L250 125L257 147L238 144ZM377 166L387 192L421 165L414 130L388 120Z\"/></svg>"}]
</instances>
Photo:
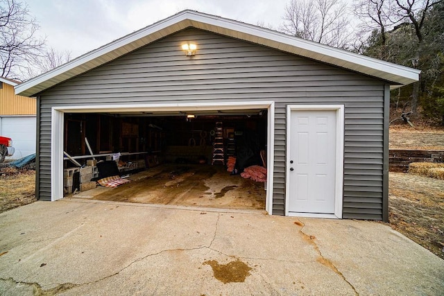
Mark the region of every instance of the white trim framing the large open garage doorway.
<instances>
[{"instance_id":1,"label":"white trim framing the large open garage doorway","mask_svg":"<svg viewBox=\"0 0 444 296\"><path fill-rule=\"evenodd\" d=\"M160 111L212 111L212 110L248 110L263 108L268 110L267 121L267 182L265 210L273 212L273 168L274 168L274 101L231 102L231 103L178 103L178 104L138 104L138 105L69 105L51 108L51 200L63 198L63 131L64 113L93 112L160 112Z\"/></svg>"}]
</instances>

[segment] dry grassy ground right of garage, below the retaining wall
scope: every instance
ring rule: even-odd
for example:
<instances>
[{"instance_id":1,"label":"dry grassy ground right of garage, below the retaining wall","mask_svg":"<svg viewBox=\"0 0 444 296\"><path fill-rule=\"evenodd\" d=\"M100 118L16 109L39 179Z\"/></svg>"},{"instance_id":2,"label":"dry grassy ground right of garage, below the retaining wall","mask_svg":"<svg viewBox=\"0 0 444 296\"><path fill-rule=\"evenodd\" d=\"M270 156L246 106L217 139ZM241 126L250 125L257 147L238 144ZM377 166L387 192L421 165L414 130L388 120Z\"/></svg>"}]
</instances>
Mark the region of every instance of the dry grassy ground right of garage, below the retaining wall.
<instances>
[{"instance_id":1,"label":"dry grassy ground right of garage, below the retaining wall","mask_svg":"<svg viewBox=\"0 0 444 296\"><path fill-rule=\"evenodd\" d=\"M390 173L390 225L444 259L444 180Z\"/></svg>"}]
</instances>

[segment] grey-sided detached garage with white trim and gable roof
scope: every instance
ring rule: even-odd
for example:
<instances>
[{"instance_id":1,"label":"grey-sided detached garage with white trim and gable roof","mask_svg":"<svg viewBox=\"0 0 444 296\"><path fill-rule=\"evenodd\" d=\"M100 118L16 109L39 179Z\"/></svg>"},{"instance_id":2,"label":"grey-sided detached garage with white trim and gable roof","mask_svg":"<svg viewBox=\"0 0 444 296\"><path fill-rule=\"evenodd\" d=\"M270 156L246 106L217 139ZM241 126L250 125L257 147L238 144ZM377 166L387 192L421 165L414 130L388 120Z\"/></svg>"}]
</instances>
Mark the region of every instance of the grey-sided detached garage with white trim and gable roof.
<instances>
[{"instance_id":1,"label":"grey-sided detached garage with white trim and gable roof","mask_svg":"<svg viewBox=\"0 0 444 296\"><path fill-rule=\"evenodd\" d=\"M87 138L94 154L121 153L126 165L144 162L146 171L183 163L229 175L230 157L236 166L250 159L267 171L255 187L262 192L254 192L268 214L388 220L389 91L418 76L185 10L16 92L37 97L40 200L64 197L71 166L64 154L84 164Z\"/></svg>"}]
</instances>

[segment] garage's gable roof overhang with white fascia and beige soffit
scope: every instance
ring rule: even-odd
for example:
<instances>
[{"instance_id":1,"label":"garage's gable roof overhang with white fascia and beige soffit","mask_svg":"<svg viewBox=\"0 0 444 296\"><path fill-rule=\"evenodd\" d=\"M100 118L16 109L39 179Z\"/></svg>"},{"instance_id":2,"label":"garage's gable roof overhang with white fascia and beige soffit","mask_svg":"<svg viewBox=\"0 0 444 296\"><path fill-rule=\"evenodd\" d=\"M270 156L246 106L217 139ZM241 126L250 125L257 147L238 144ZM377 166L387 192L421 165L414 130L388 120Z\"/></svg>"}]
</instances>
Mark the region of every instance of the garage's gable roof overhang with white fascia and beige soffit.
<instances>
[{"instance_id":1,"label":"garage's gable roof overhang with white fascia and beige soffit","mask_svg":"<svg viewBox=\"0 0 444 296\"><path fill-rule=\"evenodd\" d=\"M390 82L393 88L408 85L419 79L420 71L417 69L369 58L365 55L358 55L357 53L336 49L232 19L207 15L193 10L184 10L167 19L157 21L157 23L151 26L101 46L99 49L80 55L80 57L62 64L56 69L23 82L15 87L16 94L33 96L60 82L78 76L126 53L135 51L146 44L189 27L234 37L239 40L268 46L287 53L364 73L365 75Z\"/></svg>"}]
</instances>

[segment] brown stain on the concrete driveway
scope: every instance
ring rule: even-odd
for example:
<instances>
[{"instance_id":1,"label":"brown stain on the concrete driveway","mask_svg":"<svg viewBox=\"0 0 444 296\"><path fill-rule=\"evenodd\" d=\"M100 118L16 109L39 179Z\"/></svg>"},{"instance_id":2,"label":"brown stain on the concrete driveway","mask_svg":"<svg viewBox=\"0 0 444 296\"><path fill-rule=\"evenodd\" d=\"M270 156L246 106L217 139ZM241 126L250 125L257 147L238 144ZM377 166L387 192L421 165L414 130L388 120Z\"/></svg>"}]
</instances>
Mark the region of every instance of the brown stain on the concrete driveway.
<instances>
[{"instance_id":1,"label":"brown stain on the concrete driveway","mask_svg":"<svg viewBox=\"0 0 444 296\"><path fill-rule=\"evenodd\" d=\"M219 264L216 260L205 261L203 265L210 265L213 269L214 277L223 282L227 283L243 283L250 275L250 266L246 263L237 259L236 261L231 261L227 264Z\"/></svg>"}]
</instances>

